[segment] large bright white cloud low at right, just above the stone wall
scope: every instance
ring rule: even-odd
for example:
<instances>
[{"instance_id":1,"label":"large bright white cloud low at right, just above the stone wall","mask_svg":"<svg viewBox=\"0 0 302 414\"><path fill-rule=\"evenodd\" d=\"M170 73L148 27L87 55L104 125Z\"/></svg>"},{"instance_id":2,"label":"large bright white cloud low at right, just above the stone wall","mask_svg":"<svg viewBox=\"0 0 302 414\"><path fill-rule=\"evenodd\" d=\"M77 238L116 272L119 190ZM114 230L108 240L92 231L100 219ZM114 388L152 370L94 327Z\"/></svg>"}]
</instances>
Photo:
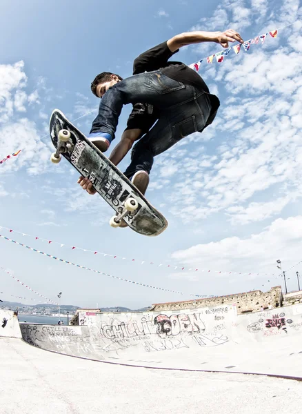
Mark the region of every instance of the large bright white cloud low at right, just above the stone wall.
<instances>
[{"instance_id":1,"label":"large bright white cloud low at right, just above the stone wall","mask_svg":"<svg viewBox=\"0 0 302 414\"><path fill-rule=\"evenodd\" d=\"M277 275L276 259L281 259L284 270L301 260L301 237L302 216L276 219L261 233L197 244L174 252L172 259L192 268ZM229 274L221 273L221 277Z\"/></svg>"}]
</instances>

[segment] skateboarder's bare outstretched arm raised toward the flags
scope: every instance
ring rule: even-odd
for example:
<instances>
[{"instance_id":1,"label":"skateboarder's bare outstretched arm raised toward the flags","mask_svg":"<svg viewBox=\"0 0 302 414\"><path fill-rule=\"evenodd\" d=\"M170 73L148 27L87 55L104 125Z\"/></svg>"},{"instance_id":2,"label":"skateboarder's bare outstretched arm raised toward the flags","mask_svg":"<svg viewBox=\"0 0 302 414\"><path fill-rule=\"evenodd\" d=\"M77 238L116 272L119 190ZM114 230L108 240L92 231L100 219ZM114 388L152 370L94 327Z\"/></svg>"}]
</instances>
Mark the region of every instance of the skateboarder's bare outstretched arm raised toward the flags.
<instances>
[{"instance_id":1,"label":"skateboarder's bare outstretched arm raised toward the flags","mask_svg":"<svg viewBox=\"0 0 302 414\"><path fill-rule=\"evenodd\" d=\"M235 30L228 29L225 32L186 32L177 34L167 41L168 48L171 52L176 52L179 48L183 46L192 45L194 43L203 43L205 41L212 41L214 43L219 43L223 48L228 48L229 41L239 41L243 43L243 39L238 32Z\"/></svg>"}]
</instances>

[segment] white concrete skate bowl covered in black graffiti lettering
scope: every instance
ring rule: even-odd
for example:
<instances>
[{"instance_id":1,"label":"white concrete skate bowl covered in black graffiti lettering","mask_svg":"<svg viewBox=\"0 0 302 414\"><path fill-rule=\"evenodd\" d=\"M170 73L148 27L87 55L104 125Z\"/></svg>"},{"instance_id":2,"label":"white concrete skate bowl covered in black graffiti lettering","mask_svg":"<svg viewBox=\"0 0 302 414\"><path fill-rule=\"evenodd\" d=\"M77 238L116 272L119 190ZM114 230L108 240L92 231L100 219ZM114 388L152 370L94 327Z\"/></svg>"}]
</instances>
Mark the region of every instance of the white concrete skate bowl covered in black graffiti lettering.
<instances>
[{"instance_id":1,"label":"white concrete skate bowl covered in black graffiti lettering","mask_svg":"<svg viewBox=\"0 0 302 414\"><path fill-rule=\"evenodd\" d=\"M106 364L302 380L302 304L244 315L233 305L80 312L79 323L21 323L21 335L31 346Z\"/></svg>"}]
</instances>

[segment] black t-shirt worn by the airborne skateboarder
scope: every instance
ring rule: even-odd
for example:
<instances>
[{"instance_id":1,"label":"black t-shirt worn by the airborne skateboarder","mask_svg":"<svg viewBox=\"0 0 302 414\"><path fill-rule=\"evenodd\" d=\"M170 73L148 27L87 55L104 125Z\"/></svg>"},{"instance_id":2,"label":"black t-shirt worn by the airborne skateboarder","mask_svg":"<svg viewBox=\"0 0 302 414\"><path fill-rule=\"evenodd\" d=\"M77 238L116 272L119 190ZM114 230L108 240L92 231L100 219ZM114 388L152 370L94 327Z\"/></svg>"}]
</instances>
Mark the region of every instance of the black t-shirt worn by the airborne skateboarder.
<instances>
[{"instance_id":1,"label":"black t-shirt worn by the airborne skateboarder","mask_svg":"<svg viewBox=\"0 0 302 414\"><path fill-rule=\"evenodd\" d=\"M160 43L154 48L143 52L133 63L133 75L138 75L143 72L152 72L153 70L161 70L164 75L180 81L182 83L192 85L197 90L203 90L210 98L212 110L207 121L207 126L212 124L214 117L219 108L219 99L215 95L211 95L208 86L203 81L202 77L198 75L193 69L189 68L185 63L177 61L168 61L175 52L171 52L168 48L167 41ZM159 110L153 108L151 105L145 103L137 103L128 118L127 128L140 128L143 132L148 132L154 122L159 118Z\"/></svg>"}]
</instances>

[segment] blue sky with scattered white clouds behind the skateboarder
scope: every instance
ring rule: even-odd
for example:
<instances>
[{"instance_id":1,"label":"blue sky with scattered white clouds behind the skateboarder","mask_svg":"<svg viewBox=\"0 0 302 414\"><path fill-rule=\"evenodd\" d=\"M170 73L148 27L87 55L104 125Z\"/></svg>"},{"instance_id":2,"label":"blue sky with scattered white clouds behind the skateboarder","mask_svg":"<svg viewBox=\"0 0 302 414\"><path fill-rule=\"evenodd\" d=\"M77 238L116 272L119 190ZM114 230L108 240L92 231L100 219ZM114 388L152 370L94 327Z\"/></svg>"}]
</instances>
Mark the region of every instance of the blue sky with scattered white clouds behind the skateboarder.
<instances>
[{"instance_id":1,"label":"blue sky with scattered white clouds behind the skateboarder","mask_svg":"<svg viewBox=\"0 0 302 414\"><path fill-rule=\"evenodd\" d=\"M203 134L184 139L154 163L147 196L169 221L159 237L110 228L112 210L103 199L79 188L67 162L50 163L48 119L59 108L70 120L81 117L76 124L88 133L99 105L90 92L95 75L110 70L130 76L139 53L174 34L233 28L248 40L299 19L297 0L117 1L108 10L99 1L3 5L0 159L22 151L0 165L0 234L183 295L74 268L2 238L0 267L52 300L62 291L63 303L88 307L136 308L281 284L276 259L285 270L302 259L301 22L249 52L231 52L223 63L201 64L199 74L221 108ZM188 46L177 60L190 64L219 50L216 43ZM123 109L117 141L130 109ZM289 290L296 289L296 270L288 272ZM41 299L2 270L0 291L7 300Z\"/></svg>"}]
</instances>

